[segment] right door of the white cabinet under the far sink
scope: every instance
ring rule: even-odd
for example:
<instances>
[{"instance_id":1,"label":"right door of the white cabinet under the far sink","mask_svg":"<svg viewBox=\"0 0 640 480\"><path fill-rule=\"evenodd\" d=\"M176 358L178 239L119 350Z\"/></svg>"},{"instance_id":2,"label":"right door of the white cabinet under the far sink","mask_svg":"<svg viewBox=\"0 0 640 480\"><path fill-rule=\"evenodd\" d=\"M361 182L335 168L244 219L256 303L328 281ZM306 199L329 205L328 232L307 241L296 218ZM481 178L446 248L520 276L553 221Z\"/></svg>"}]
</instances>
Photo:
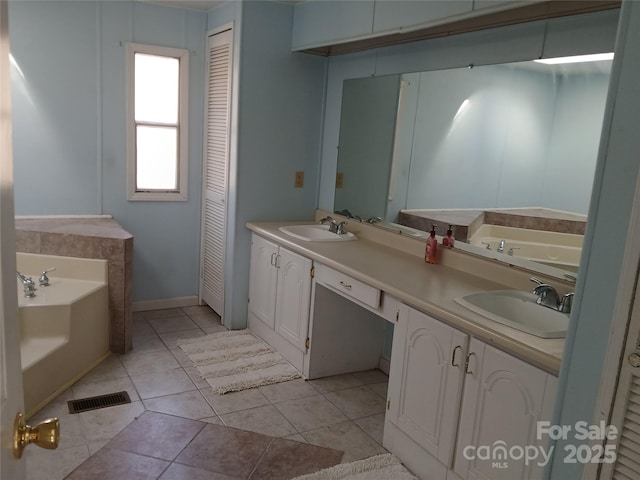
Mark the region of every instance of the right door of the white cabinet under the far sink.
<instances>
[{"instance_id":1,"label":"right door of the white cabinet under the far sink","mask_svg":"<svg viewBox=\"0 0 640 480\"><path fill-rule=\"evenodd\" d=\"M308 258L280 248L275 329L303 351L309 329L311 266Z\"/></svg>"}]
</instances>

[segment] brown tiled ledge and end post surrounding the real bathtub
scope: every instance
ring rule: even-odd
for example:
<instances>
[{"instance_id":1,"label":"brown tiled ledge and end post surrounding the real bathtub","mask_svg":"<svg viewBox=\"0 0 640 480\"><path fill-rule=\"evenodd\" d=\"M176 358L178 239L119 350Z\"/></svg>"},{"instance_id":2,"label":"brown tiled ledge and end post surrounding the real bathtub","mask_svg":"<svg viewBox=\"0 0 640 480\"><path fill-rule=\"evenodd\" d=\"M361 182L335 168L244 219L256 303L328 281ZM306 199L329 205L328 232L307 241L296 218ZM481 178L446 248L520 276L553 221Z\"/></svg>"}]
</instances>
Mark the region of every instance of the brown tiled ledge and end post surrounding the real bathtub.
<instances>
[{"instance_id":1,"label":"brown tiled ledge and end post surrounding the real bathtub","mask_svg":"<svg viewBox=\"0 0 640 480\"><path fill-rule=\"evenodd\" d=\"M115 353L125 353L131 349L133 236L115 220L16 218L16 250L107 260L110 348Z\"/></svg>"}]
</instances>

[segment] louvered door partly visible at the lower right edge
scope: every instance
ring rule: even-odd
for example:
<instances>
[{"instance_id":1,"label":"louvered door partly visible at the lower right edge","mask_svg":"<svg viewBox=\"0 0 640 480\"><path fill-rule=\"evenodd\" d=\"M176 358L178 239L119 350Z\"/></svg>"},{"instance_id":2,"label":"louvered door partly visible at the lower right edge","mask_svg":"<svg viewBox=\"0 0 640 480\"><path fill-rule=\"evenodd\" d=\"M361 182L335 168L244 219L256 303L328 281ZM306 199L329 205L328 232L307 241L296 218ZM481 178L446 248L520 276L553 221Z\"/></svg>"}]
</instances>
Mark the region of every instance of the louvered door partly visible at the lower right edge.
<instances>
[{"instance_id":1,"label":"louvered door partly visible at the lower right edge","mask_svg":"<svg viewBox=\"0 0 640 480\"><path fill-rule=\"evenodd\" d=\"M615 445L617 460L604 464L600 479L637 480L640 478L640 293L636 290L627 345L614 400L611 425L618 429Z\"/></svg>"}]
</instances>

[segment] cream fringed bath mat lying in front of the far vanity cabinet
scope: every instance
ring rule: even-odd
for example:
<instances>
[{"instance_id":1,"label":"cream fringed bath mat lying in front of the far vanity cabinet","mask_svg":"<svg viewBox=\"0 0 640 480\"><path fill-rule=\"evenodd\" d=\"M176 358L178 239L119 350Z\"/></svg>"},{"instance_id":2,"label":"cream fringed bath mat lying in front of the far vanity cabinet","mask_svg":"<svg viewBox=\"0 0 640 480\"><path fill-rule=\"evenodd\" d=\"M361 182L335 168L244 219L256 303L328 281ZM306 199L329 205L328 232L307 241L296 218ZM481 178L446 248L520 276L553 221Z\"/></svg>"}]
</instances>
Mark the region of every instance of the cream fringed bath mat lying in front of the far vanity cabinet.
<instances>
[{"instance_id":1,"label":"cream fringed bath mat lying in front of the far vanity cabinet","mask_svg":"<svg viewBox=\"0 0 640 480\"><path fill-rule=\"evenodd\" d=\"M178 340L178 346L218 395L302 377L249 330Z\"/></svg>"}]
</instances>

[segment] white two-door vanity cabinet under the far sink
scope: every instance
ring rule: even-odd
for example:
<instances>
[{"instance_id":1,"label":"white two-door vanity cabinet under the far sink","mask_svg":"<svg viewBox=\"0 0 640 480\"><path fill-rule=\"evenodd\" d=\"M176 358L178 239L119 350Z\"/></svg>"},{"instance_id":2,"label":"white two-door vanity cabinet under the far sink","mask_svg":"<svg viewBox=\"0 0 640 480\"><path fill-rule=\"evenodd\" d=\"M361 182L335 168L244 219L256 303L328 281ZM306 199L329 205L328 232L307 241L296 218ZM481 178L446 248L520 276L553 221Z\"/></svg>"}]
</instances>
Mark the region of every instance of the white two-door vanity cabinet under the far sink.
<instances>
[{"instance_id":1,"label":"white two-door vanity cabinet under the far sink","mask_svg":"<svg viewBox=\"0 0 640 480\"><path fill-rule=\"evenodd\" d=\"M249 328L299 370L309 328L312 267L310 259L252 235Z\"/></svg>"}]
</instances>

